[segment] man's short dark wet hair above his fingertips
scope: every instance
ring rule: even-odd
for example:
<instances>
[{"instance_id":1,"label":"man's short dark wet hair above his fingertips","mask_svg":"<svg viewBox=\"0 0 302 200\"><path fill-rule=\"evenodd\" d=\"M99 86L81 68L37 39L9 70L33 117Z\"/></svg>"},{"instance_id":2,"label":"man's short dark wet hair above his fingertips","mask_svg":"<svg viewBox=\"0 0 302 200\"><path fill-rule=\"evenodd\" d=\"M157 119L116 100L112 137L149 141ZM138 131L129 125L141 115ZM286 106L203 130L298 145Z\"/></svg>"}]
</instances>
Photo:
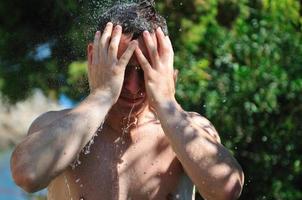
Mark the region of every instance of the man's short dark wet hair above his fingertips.
<instances>
[{"instance_id":1,"label":"man's short dark wet hair above his fingertips","mask_svg":"<svg viewBox=\"0 0 302 200\"><path fill-rule=\"evenodd\" d=\"M112 22L113 25L121 25L123 33L133 33L133 39L145 30L153 32L158 27L168 35L166 20L157 13L154 6L154 0L115 5L99 17L98 30L103 31L106 24Z\"/></svg>"}]
</instances>

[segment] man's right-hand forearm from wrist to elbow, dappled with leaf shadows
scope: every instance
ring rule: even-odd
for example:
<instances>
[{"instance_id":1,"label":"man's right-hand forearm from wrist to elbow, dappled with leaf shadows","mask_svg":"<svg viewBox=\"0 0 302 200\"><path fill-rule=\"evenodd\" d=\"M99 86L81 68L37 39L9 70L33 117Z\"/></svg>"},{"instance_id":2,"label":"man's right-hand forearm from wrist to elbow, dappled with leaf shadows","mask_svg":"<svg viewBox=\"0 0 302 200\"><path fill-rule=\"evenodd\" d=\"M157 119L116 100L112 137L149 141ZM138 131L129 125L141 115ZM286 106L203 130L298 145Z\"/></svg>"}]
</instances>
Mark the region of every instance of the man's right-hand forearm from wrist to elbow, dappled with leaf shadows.
<instances>
[{"instance_id":1,"label":"man's right-hand forearm from wrist to elbow, dappled with leaf shadows","mask_svg":"<svg viewBox=\"0 0 302 200\"><path fill-rule=\"evenodd\" d=\"M175 100L159 104L156 111L173 150L204 198L237 198L243 175L228 150Z\"/></svg>"}]
</instances>

